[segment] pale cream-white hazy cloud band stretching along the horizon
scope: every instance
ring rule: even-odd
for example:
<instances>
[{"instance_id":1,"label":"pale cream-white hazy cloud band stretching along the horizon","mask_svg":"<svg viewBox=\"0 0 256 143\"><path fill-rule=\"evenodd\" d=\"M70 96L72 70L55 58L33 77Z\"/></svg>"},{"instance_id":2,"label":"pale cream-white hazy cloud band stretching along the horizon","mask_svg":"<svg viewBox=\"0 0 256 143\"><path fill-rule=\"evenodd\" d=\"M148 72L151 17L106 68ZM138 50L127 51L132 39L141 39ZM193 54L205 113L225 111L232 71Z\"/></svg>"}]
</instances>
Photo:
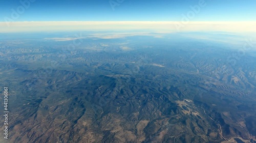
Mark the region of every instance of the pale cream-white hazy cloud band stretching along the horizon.
<instances>
[{"instance_id":1,"label":"pale cream-white hazy cloud band stretching along the horizon","mask_svg":"<svg viewBox=\"0 0 256 143\"><path fill-rule=\"evenodd\" d=\"M157 32L256 32L256 21L25 21L0 22L0 33L148 30Z\"/></svg>"}]
</instances>

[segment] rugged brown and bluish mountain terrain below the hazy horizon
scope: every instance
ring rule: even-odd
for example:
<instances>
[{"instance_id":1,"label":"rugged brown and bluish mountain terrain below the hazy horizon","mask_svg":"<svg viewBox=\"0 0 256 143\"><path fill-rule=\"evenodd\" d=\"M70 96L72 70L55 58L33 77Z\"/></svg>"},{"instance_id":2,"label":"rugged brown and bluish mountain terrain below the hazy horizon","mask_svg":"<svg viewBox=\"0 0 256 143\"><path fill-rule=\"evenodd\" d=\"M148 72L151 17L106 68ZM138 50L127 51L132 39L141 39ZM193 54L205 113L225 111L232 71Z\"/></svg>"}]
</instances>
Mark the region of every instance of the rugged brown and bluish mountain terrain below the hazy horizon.
<instances>
[{"instance_id":1,"label":"rugged brown and bluish mountain terrain below the hazy horizon","mask_svg":"<svg viewBox=\"0 0 256 143\"><path fill-rule=\"evenodd\" d=\"M184 35L5 38L0 142L256 142L255 50Z\"/></svg>"}]
</instances>

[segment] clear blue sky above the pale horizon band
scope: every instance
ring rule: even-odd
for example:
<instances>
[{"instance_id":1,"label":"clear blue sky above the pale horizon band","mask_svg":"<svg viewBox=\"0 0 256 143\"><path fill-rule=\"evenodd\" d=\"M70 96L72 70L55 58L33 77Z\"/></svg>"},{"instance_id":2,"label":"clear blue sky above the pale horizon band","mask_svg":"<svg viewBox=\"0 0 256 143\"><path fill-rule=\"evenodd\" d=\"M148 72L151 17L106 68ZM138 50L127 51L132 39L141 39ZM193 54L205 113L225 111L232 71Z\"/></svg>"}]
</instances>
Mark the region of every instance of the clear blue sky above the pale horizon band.
<instances>
[{"instance_id":1,"label":"clear blue sky above the pale horizon band","mask_svg":"<svg viewBox=\"0 0 256 143\"><path fill-rule=\"evenodd\" d=\"M29 0L21 0L25 1ZM12 10L18 12L20 1L0 1L0 21L4 17L13 21L182 21L182 14L201 0L124 0L114 9L108 0L33 1L14 19ZM117 1L121 0L113 0ZM205 0L205 4L191 21L256 21L255 0Z\"/></svg>"}]
</instances>

